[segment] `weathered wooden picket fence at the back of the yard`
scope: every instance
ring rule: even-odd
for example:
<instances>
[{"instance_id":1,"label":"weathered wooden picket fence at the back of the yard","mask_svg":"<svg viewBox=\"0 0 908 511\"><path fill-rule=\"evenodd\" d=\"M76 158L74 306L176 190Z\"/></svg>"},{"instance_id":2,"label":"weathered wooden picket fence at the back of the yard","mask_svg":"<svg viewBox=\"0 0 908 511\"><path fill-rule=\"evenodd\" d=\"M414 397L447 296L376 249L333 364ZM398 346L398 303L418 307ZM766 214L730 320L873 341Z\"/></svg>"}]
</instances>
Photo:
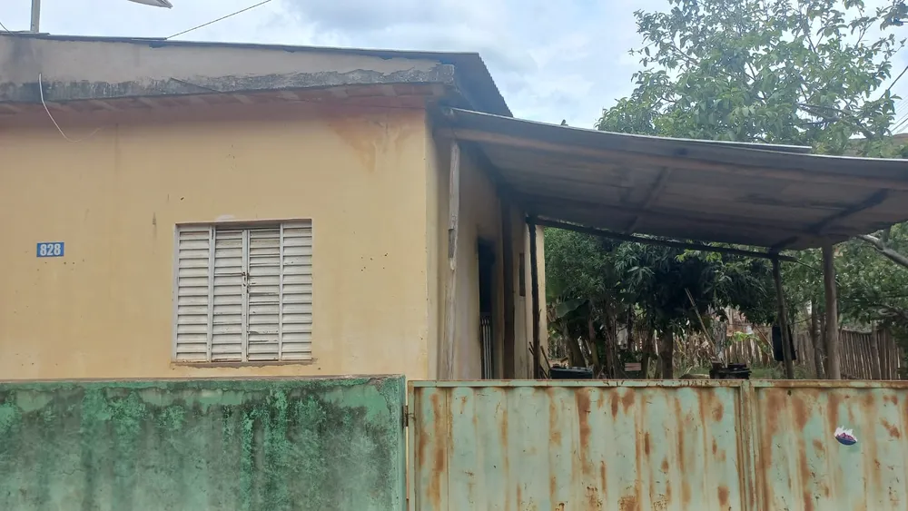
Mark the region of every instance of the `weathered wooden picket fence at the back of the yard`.
<instances>
[{"instance_id":1,"label":"weathered wooden picket fence at the back of the yard","mask_svg":"<svg viewBox=\"0 0 908 511\"><path fill-rule=\"evenodd\" d=\"M774 364L768 331L762 329L754 337L734 341L729 339L725 349L725 360L744 362L749 366ZM875 349L873 341L876 341ZM839 356L842 378L846 379L900 379L903 374L903 350L895 343L888 330L861 332L850 329L839 330ZM874 354L874 351L876 353ZM814 343L806 331L795 333L795 366L804 369L812 378L817 376L814 359ZM874 367L878 360L879 366ZM821 362L824 364L824 362ZM876 375L879 376L876 376Z\"/></svg>"}]
</instances>

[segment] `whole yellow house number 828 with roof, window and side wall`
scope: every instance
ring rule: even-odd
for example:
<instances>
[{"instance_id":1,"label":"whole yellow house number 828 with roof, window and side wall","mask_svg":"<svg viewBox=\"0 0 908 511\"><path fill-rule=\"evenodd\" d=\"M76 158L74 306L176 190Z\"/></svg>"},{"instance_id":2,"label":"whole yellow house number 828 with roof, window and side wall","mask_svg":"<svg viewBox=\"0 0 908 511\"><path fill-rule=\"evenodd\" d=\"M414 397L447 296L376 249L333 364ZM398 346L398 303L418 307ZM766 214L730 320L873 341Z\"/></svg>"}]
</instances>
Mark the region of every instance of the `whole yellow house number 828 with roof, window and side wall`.
<instances>
[{"instance_id":1,"label":"whole yellow house number 828 with roof, window and side wall","mask_svg":"<svg viewBox=\"0 0 908 511\"><path fill-rule=\"evenodd\" d=\"M451 322L445 376L532 376L525 211L467 144L449 258L441 109L509 115L478 55L10 34L0 69L0 378L439 378Z\"/></svg>"}]
</instances>

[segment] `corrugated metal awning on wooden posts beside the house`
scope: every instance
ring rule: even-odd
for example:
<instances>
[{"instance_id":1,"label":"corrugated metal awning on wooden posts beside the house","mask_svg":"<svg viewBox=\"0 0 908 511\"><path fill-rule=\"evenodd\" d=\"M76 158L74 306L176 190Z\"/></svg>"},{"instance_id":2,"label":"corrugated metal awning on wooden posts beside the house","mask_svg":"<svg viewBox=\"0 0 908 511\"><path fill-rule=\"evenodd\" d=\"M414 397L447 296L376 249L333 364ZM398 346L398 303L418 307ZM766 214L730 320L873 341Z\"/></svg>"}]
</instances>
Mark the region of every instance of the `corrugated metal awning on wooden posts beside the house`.
<instances>
[{"instance_id":1,"label":"corrugated metal awning on wooden posts beside the house","mask_svg":"<svg viewBox=\"0 0 908 511\"><path fill-rule=\"evenodd\" d=\"M818 247L908 220L908 160L669 139L446 111L530 214L623 233Z\"/></svg>"}]
</instances>

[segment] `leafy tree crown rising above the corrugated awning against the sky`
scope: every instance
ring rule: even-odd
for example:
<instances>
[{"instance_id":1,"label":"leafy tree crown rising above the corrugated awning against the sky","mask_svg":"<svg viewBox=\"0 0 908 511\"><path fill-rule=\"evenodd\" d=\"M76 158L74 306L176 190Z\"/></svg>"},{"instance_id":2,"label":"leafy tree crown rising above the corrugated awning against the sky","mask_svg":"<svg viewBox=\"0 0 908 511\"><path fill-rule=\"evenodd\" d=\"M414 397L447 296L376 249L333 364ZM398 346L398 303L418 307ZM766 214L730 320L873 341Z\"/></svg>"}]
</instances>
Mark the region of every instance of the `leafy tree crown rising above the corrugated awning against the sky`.
<instances>
[{"instance_id":1,"label":"leafy tree crown rising above the corrugated awning against the sky","mask_svg":"<svg viewBox=\"0 0 908 511\"><path fill-rule=\"evenodd\" d=\"M669 0L638 11L637 89L598 128L696 139L813 145L873 154L893 120L878 90L904 44L905 6L860 0ZM854 135L864 136L854 148Z\"/></svg>"}]
</instances>

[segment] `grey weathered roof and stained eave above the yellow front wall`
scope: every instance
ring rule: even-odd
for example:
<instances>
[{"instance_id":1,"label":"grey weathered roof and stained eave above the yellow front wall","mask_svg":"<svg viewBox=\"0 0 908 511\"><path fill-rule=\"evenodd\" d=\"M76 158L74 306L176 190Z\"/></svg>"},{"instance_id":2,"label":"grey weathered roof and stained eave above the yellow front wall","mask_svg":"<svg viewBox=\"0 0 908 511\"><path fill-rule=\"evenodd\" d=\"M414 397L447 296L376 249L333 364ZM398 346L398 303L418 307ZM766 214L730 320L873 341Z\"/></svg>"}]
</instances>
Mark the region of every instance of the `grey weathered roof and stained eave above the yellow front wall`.
<instances>
[{"instance_id":1,"label":"grey weathered roof and stained eave above the yellow front wall","mask_svg":"<svg viewBox=\"0 0 908 511\"><path fill-rule=\"evenodd\" d=\"M0 113L40 108L39 92L53 107L326 89L393 96L419 88L451 105L510 115L479 54L0 33L0 69Z\"/></svg>"}]
</instances>

